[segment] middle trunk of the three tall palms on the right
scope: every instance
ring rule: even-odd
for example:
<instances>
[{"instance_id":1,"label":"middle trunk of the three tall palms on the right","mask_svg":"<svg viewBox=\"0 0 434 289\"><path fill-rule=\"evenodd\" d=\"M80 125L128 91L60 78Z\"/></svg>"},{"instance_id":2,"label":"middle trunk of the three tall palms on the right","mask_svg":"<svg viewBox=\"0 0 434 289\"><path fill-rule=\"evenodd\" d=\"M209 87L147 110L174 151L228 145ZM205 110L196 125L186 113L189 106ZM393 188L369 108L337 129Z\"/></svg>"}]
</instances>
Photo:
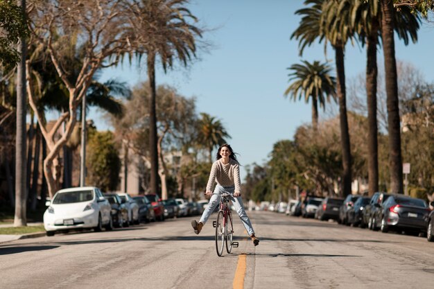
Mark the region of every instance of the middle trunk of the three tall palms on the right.
<instances>
[{"instance_id":1,"label":"middle trunk of the three tall palms on the right","mask_svg":"<svg viewBox=\"0 0 434 289\"><path fill-rule=\"evenodd\" d=\"M369 195L379 191L378 128L376 122L376 44L379 23L371 21L371 33L367 37L366 96L367 96L367 175Z\"/></svg>"}]
</instances>

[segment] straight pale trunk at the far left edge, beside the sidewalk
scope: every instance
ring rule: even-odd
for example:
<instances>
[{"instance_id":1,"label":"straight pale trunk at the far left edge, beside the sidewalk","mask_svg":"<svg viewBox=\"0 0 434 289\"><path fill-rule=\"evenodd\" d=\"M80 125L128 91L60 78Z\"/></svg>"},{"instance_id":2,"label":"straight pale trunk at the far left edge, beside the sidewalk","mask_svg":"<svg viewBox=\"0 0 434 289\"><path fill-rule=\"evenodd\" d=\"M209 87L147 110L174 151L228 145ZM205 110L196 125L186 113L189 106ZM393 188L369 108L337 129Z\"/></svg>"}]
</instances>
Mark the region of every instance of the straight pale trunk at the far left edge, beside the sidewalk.
<instances>
[{"instance_id":1,"label":"straight pale trunk at the far left edge, beside the sidewalk","mask_svg":"<svg viewBox=\"0 0 434 289\"><path fill-rule=\"evenodd\" d=\"M19 0L23 17L26 0ZM17 69L17 136L15 163L15 218L14 227L26 226L26 40L21 38L17 51L21 54Z\"/></svg>"}]
</instances>

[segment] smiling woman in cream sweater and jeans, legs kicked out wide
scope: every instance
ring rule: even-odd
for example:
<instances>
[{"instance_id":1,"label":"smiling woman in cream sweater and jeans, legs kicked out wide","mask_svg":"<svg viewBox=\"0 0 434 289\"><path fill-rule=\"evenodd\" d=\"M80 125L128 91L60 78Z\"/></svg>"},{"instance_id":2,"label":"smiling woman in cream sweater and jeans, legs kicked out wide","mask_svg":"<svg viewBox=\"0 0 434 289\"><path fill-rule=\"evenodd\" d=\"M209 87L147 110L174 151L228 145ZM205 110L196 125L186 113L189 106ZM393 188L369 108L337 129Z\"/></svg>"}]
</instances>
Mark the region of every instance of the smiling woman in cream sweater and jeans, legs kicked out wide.
<instances>
[{"instance_id":1,"label":"smiling woman in cream sweater and jeans, legs kicked out wide","mask_svg":"<svg viewBox=\"0 0 434 289\"><path fill-rule=\"evenodd\" d=\"M212 187L217 180L217 186L212 193ZM227 192L231 194L231 201L234 204L236 213L243 222L245 229L248 231L250 238L252 238L253 244L257 246L259 239L254 236L252 223L250 222L247 213L245 213L243 200L241 199L241 181L240 181L240 164L236 160L234 150L227 143L218 148L217 160L214 161L211 167L211 173L209 173L209 179L207 184L206 195L212 195L209 200L207 209L202 213L202 217L199 222L196 220L191 221L191 226L196 234L199 234L203 225L207 222L209 216L217 207L220 202L222 193Z\"/></svg>"}]
</instances>

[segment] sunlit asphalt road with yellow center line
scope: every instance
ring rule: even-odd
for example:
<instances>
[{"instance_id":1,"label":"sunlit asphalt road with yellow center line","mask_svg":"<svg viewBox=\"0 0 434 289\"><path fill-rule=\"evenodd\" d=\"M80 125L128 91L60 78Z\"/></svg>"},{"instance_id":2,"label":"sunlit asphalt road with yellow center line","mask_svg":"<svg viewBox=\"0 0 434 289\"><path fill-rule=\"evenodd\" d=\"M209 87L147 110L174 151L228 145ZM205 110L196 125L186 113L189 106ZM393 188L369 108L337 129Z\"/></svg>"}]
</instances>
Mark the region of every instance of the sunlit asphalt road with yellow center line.
<instances>
[{"instance_id":1,"label":"sunlit asphalt road with yellow center line","mask_svg":"<svg viewBox=\"0 0 434 289\"><path fill-rule=\"evenodd\" d=\"M434 288L426 238L249 215L261 243L252 245L236 217L239 247L223 257L214 217L200 235L191 218L178 218L3 243L0 288Z\"/></svg>"}]
</instances>

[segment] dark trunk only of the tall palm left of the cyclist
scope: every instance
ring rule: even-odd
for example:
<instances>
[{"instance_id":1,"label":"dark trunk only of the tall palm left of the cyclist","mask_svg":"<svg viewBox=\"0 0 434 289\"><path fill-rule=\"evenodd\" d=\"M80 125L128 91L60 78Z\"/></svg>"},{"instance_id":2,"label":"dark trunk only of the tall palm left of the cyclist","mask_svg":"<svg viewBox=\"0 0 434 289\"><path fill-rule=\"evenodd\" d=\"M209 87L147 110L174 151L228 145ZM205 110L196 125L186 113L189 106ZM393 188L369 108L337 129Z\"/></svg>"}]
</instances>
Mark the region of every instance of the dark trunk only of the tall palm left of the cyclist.
<instances>
[{"instance_id":1,"label":"dark trunk only of the tall palm left of the cyclist","mask_svg":"<svg viewBox=\"0 0 434 289\"><path fill-rule=\"evenodd\" d=\"M155 55L148 54L149 79L149 150L150 150L150 193L159 193L158 190L158 151L157 151L157 114L155 100Z\"/></svg>"}]
</instances>

